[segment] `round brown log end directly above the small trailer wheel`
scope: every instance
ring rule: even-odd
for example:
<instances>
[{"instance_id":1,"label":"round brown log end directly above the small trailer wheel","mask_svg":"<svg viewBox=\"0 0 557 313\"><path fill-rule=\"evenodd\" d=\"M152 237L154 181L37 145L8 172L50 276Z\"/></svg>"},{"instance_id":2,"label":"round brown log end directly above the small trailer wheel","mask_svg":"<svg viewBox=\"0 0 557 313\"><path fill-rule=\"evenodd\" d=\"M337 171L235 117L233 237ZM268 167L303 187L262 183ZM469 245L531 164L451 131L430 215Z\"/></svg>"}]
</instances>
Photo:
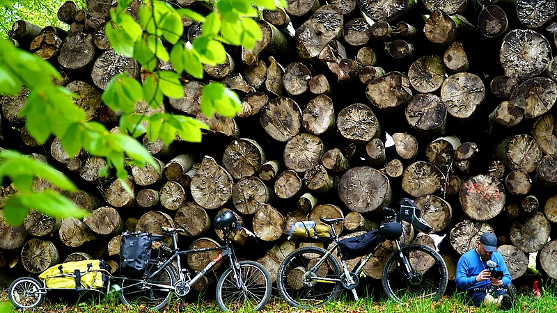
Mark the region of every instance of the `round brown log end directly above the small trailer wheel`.
<instances>
[{"instance_id":1,"label":"round brown log end directly above the small trailer wheel","mask_svg":"<svg viewBox=\"0 0 557 313\"><path fill-rule=\"evenodd\" d=\"M60 262L60 254L52 241L31 239L22 248L23 267L38 274Z\"/></svg>"}]
</instances>

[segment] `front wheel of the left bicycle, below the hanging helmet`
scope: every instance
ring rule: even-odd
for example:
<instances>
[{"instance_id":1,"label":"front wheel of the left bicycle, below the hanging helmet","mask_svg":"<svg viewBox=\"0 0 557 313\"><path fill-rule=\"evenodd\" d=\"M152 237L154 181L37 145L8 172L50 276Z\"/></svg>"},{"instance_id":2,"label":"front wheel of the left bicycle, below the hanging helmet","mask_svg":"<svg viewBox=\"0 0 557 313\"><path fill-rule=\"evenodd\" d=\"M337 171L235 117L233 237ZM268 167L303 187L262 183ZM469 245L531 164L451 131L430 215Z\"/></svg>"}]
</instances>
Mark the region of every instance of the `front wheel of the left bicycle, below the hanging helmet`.
<instances>
[{"instance_id":1,"label":"front wheel of the left bicycle, below the hanging helmet","mask_svg":"<svg viewBox=\"0 0 557 313\"><path fill-rule=\"evenodd\" d=\"M239 263L238 289L232 268L228 268L217 282L217 303L223 311L260 310L271 296L271 277L261 264L252 261Z\"/></svg>"}]
</instances>

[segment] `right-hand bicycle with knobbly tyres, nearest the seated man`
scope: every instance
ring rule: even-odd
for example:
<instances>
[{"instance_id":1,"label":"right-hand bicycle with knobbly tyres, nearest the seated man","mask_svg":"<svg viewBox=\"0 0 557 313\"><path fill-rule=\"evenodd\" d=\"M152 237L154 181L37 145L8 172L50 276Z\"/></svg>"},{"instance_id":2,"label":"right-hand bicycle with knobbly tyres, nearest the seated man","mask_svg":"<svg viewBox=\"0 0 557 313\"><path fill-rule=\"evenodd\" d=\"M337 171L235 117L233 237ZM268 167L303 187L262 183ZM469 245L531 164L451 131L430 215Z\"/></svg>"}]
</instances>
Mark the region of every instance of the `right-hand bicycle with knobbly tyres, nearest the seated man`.
<instances>
[{"instance_id":1,"label":"right-hand bicycle with knobbly tyres, nearest the seated man","mask_svg":"<svg viewBox=\"0 0 557 313\"><path fill-rule=\"evenodd\" d=\"M432 227L419 218L420 211L414 203L407 198L403 201L401 201L400 215L405 216L419 230L431 231ZM387 259L382 272L382 286L386 294L398 302L402 302L406 296L438 300L444 294L448 281L447 267L443 258L428 246L416 244L401 246L400 215L388 207L384 207L383 211L386 212L385 223L378 230L366 233L372 234L377 231L381 236L378 236L379 239L372 248L367 248L367 251L363 252L363 255L368 254L354 272L350 272L346 266L345 259L350 258L345 256L349 253L343 251L339 245L338 234L333 227L344 218L321 217L321 222L331 228L333 244L329 250L317 247L299 248L283 260L278 268L277 284L286 302L302 309L317 307L332 300L341 286L351 290L355 300L358 300L354 288L359 284L363 266L386 240L395 243L395 250ZM390 222L390 220L394 221ZM340 265L333 255L335 250L338 250L338 255L342 257Z\"/></svg>"}]
</instances>

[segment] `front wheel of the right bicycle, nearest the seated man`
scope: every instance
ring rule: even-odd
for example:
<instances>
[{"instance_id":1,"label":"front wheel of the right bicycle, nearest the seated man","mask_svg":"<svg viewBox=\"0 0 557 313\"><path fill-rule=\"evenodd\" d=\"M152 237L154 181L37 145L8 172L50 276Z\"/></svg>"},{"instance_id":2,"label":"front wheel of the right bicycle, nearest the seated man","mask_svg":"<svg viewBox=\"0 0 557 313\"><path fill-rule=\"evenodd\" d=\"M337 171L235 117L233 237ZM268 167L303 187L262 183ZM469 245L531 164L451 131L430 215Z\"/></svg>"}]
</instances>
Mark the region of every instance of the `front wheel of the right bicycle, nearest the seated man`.
<instances>
[{"instance_id":1,"label":"front wheel of the right bicycle, nearest the seated man","mask_svg":"<svg viewBox=\"0 0 557 313\"><path fill-rule=\"evenodd\" d=\"M439 300L447 287L447 266L439 253L423 245L402 246L402 257L408 260L409 271L398 250L387 259L383 268L383 288L393 300L431 298Z\"/></svg>"}]
</instances>

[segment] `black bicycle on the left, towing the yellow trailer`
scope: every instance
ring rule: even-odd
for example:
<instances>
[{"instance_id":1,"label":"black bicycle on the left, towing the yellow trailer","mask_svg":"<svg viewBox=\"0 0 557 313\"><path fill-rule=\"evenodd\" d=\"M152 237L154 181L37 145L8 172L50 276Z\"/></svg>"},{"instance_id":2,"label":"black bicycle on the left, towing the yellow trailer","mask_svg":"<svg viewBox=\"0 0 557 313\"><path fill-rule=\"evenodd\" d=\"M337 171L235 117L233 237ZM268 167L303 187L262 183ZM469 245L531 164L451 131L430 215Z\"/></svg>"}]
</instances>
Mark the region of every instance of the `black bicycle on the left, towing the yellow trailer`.
<instances>
[{"instance_id":1,"label":"black bicycle on the left, towing the yellow trailer","mask_svg":"<svg viewBox=\"0 0 557 313\"><path fill-rule=\"evenodd\" d=\"M176 234L185 232L185 230L162 227L164 234L173 237L173 249L168 251L171 252L171 255L162 257L159 253L157 259L149 260L146 273L141 278L124 278L121 284L120 300L125 305L139 303L146 305L150 310L159 310L168 303L173 293L182 297L183 300L189 293L192 284L197 282L207 271L210 271L215 264L228 257L230 267L224 271L217 282L217 303L219 303L219 307L223 311L260 310L267 304L271 296L271 278L261 264L252 261L239 262L237 260L230 234L241 230L243 227L237 225L235 217L233 220L234 223L223 227L225 245L217 248L180 251ZM217 227L217 223L215 224L215 227ZM248 231L248 233L251 232ZM162 240L162 236L159 240ZM180 256L182 255L212 251L222 252L194 278L191 278L189 271L182 268L180 264ZM182 301L180 310L183 308L183 303L184 301Z\"/></svg>"}]
</instances>

